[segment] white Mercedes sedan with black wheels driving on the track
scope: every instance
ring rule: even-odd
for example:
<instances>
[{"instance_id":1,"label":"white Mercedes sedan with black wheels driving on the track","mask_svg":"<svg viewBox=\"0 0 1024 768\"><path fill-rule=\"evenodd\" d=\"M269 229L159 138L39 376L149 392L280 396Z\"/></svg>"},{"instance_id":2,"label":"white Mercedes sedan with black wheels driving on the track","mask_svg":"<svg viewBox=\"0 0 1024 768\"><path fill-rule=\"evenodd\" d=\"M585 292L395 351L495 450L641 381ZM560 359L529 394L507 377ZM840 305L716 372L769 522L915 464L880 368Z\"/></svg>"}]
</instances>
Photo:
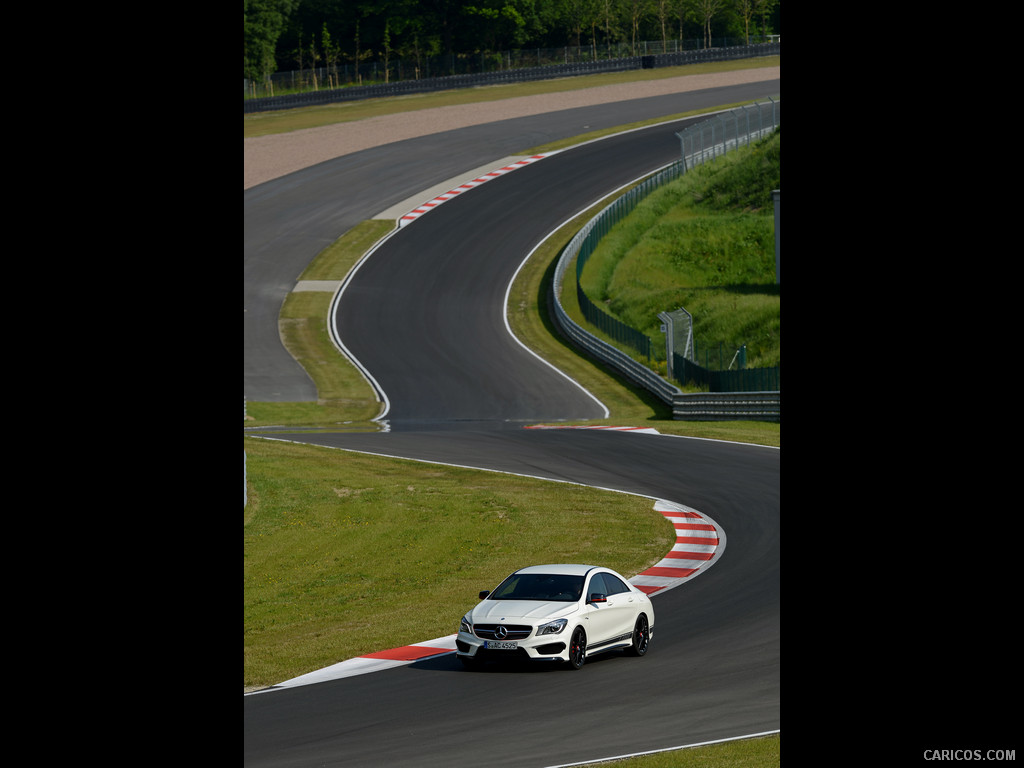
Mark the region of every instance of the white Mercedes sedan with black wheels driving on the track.
<instances>
[{"instance_id":1,"label":"white Mercedes sedan with black wheels driving on the track","mask_svg":"<svg viewBox=\"0 0 1024 768\"><path fill-rule=\"evenodd\" d=\"M456 654L469 668L486 659L564 662L626 649L642 656L654 635L650 598L596 565L520 568L463 616Z\"/></svg>"}]
</instances>

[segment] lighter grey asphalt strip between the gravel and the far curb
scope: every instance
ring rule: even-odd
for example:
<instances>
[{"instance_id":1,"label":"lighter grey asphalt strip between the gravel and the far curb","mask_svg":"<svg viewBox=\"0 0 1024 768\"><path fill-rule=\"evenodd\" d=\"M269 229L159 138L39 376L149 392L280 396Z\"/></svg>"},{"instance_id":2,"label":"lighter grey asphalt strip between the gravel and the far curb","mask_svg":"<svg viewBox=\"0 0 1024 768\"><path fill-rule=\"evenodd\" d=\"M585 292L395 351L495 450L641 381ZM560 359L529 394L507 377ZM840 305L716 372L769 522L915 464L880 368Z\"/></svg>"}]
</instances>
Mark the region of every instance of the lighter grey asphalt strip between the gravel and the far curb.
<instances>
[{"instance_id":1,"label":"lighter grey asphalt strip between the gravel and the far curb","mask_svg":"<svg viewBox=\"0 0 1024 768\"><path fill-rule=\"evenodd\" d=\"M245 190L246 398L316 399L309 377L281 344L278 315L302 270L360 221L530 146L662 115L763 98L778 89L779 81L772 80L488 123L345 155Z\"/></svg>"}]
</instances>

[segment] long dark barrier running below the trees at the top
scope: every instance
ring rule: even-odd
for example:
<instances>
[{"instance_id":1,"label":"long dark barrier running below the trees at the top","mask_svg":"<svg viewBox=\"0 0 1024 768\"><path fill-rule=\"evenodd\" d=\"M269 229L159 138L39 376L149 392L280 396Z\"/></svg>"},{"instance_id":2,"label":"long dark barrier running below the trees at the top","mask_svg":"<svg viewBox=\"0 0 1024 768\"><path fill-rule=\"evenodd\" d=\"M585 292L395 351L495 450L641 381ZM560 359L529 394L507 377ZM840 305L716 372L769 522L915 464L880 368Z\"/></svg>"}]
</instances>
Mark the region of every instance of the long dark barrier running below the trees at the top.
<instances>
[{"instance_id":1,"label":"long dark barrier running below the trees at the top","mask_svg":"<svg viewBox=\"0 0 1024 768\"><path fill-rule=\"evenodd\" d=\"M727 61L736 58L753 58L755 56L774 56L781 53L781 43L759 43L757 45L738 45L726 48L703 48L700 50L679 51L676 53L655 53L644 56L628 56L625 58L600 59L596 61L579 61L547 67L528 67L517 70L502 70L500 72L484 72L473 75L450 75L439 78L424 78L423 80L399 80L393 83L377 85L360 85L349 88L332 88L321 91L294 93L283 96L263 96L243 100L243 114L257 112L272 112L274 110L293 110L299 106L315 106L340 101L358 101L366 98L381 98L410 93L428 93L431 91L452 90L454 88L472 88L480 85L500 85L503 83L522 83L536 80L573 77L575 75L594 75L604 72L624 72L628 70L653 69L655 67L679 67L686 63L702 61Z\"/></svg>"}]
</instances>

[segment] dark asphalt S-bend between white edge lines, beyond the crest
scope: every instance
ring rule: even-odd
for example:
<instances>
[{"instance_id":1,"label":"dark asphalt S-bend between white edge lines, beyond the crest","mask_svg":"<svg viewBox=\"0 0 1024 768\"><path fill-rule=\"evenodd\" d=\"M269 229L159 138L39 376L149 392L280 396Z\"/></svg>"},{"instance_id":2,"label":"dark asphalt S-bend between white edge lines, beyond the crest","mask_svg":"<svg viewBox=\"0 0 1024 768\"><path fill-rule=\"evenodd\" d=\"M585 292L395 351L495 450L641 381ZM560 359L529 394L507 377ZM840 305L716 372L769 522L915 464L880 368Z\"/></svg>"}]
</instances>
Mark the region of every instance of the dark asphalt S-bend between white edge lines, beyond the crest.
<instances>
[{"instance_id":1,"label":"dark asphalt S-bend between white edge lines, beyond the crest","mask_svg":"<svg viewBox=\"0 0 1024 768\"><path fill-rule=\"evenodd\" d=\"M600 419L578 386L505 328L505 291L539 237L679 157L699 118L553 155L455 198L389 238L342 294L336 333L418 422Z\"/></svg>"}]
</instances>

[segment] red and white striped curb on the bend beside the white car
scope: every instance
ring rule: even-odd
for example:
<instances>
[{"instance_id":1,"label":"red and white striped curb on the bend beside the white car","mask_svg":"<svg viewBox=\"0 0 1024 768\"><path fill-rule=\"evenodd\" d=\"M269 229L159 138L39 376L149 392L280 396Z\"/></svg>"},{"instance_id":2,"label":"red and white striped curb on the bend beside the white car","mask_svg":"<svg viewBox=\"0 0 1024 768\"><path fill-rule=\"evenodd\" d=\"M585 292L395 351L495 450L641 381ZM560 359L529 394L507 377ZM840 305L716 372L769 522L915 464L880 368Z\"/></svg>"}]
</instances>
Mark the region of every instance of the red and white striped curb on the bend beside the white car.
<instances>
[{"instance_id":1,"label":"red and white striped curb on the bend beside the white car","mask_svg":"<svg viewBox=\"0 0 1024 768\"><path fill-rule=\"evenodd\" d=\"M654 509L665 515L676 528L676 544L655 565L630 580L630 584L648 595L665 592L693 579L707 570L725 549L725 534L711 518L689 507L666 501L655 501ZM246 695L366 675L454 653L456 637L457 635L446 635L415 645L367 653L269 688L250 691Z\"/></svg>"}]
</instances>

